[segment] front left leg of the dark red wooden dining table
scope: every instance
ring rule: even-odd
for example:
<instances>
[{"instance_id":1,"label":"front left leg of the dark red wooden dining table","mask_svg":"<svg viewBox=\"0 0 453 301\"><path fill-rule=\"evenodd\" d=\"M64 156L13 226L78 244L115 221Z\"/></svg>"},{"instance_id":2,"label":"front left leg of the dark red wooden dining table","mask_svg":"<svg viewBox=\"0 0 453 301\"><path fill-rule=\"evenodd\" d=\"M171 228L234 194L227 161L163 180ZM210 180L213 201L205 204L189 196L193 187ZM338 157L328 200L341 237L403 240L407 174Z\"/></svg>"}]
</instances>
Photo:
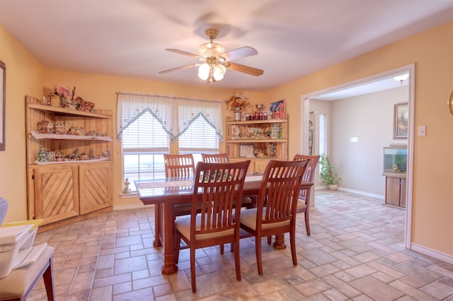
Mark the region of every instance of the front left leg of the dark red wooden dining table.
<instances>
[{"instance_id":1,"label":"front left leg of the dark red wooden dining table","mask_svg":"<svg viewBox=\"0 0 453 301\"><path fill-rule=\"evenodd\" d=\"M175 220L173 204L164 203L164 266L162 273L171 275L178 271L175 261Z\"/></svg>"}]
</instances>

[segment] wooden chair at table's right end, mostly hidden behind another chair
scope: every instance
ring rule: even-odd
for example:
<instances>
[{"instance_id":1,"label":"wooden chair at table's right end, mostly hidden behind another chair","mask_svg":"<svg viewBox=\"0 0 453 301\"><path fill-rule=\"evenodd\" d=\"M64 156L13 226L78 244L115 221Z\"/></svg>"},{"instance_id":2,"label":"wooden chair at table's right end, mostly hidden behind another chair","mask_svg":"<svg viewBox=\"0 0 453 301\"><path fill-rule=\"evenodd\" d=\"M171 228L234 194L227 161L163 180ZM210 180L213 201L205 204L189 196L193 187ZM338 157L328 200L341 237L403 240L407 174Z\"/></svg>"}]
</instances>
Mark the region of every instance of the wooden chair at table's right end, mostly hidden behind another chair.
<instances>
[{"instance_id":1,"label":"wooden chair at table's right end, mostly hidden behind another chair","mask_svg":"<svg viewBox=\"0 0 453 301\"><path fill-rule=\"evenodd\" d=\"M301 155L297 154L294 155L292 160L309 160L309 163L306 165L306 169L304 172L304 177L302 177L302 181L306 182L313 182L314 173L316 171L316 165L318 165L318 161L320 155ZM299 192L299 201L297 202L297 211L296 213L304 213L305 218L305 230L306 235L310 236L310 194L311 194L311 187L309 189L301 189Z\"/></svg>"}]
</instances>

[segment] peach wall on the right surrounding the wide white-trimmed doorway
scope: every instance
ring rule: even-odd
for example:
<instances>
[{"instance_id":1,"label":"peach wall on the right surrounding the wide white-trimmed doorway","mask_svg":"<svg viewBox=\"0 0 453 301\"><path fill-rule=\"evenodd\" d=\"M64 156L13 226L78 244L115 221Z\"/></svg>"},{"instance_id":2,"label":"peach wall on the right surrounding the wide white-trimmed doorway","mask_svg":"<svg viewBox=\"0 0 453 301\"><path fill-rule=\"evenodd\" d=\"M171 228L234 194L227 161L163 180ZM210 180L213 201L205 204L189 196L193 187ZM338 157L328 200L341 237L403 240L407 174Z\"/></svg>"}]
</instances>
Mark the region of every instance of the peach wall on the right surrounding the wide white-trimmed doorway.
<instances>
[{"instance_id":1,"label":"peach wall on the right surrounding the wide white-trimmed doorway","mask_svg":"<svg viewBox=\"0 0 453 301\"><path fill-rule=\"evenodd\" d=\"M415 63L415 136L411 241L453 256L453 117L447 100L453 89L453 22L361 57L344 61L266 92L269 102L287 99L289 127L301 129L301 96ZM304 68L304 66L301 66ZM289 140L289 157L300 151L300 135ZM434 160L433 160L434 159Z\"/></svg>"}]
</instances>

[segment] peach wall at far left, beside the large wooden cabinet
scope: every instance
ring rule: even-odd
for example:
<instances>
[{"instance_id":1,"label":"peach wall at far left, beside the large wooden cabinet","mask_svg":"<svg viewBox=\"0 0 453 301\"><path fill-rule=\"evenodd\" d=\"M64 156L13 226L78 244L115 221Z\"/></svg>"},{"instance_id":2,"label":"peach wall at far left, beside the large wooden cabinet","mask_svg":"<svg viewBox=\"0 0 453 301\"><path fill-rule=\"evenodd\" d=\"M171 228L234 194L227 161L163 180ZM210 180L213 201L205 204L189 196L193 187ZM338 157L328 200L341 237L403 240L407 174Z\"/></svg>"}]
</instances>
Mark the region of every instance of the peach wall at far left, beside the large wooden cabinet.
<instances>
[{"instance_id":1,"label":"peach wall at far left, beside the large wooden cabinet","mask_svg":"<svg viewBox=\"0 0 453 301\"><path fill-rule=\"evenodd\" d=\"M6 64L6 151L0 151L0 196L9 202L5 221L27 218L25 98L40 95L45 69L0 24L0 60Z\"/></svg>"}]
</instances>

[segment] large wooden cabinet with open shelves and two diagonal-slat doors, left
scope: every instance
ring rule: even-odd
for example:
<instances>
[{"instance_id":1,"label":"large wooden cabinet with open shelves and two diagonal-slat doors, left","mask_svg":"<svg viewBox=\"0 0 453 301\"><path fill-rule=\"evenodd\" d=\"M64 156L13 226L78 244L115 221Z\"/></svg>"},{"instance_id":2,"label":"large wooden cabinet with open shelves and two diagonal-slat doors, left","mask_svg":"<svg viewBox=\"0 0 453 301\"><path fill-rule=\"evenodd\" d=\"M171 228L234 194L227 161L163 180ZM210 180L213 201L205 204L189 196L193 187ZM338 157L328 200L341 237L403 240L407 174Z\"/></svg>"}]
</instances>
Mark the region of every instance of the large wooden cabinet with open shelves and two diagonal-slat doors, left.
<instances>
[{"instance_id":1,"label":"large wooden cabinet with open shelves and two diagonal-slat doors, left","mask_svg":"<svg viewBox=\"0 0 453 301\"><path fill-rule=\"evenodd\" d=\"M40 231L112 210L111 110L86 112L25 97L28 219Z\"/></svg>"}]
</instances>

